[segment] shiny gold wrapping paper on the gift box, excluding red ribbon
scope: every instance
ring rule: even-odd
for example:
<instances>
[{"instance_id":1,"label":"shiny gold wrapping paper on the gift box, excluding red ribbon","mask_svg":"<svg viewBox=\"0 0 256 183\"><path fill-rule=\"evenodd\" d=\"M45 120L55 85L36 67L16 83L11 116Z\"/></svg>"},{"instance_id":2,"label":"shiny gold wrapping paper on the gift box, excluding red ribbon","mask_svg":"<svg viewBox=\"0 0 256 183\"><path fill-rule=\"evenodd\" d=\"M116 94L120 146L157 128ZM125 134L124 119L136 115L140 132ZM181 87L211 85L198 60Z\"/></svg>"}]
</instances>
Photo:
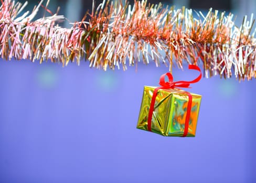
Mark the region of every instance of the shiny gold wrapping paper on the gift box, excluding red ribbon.
<instances>
[{"instance_id":1,"label":"shiny gold wrapping paper on the gift box, excluding red ribbon","mask_svg":"<svg viewBox=\"0 0 256 183\"><path fill-rule=\"evenodd\" d=\"M153 86L144 86L140 116L137 128L147 129L148 111L153 96ZM187 136L196 135L197 119L201 96L190 93L193 97ZM164 136L183 136L187 115L188 95L179 89L159 89L152 116L152 132Z\"/></svg>"}]
</instances>

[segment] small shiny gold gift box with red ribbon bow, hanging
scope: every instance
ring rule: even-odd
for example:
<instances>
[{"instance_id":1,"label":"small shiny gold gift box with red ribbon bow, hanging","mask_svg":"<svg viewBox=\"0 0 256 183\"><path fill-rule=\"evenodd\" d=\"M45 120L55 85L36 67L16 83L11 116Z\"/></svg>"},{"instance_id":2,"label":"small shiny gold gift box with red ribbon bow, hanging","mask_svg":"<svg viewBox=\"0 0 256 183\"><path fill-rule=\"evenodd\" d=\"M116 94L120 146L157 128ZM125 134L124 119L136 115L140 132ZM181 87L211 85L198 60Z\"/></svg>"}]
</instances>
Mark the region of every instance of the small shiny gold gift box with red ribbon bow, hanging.
<instances>
[{"instance_id":1,"label":"small shiny gold gift box with red ribbon bow, hanging","mask_svg":"<svg viewBox=\"0 0 256 183\"><path fill-rule=\"evenodd\" d=\"M189 68L200 71L195 65ZM165 75L169 82L164 82ZM164 136L195 136L201 95L178 87L198 82L201 73L191 82L173 82L170 73L165 75L161 76L161 87L144 86L137 128Z\"/></svg>"}]
</instances>

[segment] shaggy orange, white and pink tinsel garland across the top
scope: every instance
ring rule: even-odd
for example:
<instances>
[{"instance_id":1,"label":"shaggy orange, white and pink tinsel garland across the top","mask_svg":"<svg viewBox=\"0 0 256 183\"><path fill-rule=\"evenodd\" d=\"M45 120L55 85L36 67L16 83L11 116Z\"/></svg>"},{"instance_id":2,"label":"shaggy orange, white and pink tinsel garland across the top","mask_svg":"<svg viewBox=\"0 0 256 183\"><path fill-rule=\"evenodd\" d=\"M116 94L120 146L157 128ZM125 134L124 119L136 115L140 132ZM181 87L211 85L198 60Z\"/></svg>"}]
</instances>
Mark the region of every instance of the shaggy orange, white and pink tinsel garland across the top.
<instances>
[{"instance_id":1,"label":"shaggy orange, white and pink tinsel garland across the top","mask_svg":"<svg viewBox=\"0 0 256 183\"><path fill-rule=\"evenodd\" d=\"M121 1L120 1L121 2ZM120 68L154 61L156 66L173 61L204 67L205 76L239 80L256 77L254 20L244 17L234 24L233 15L209 10L193 17L192 9L174 9L134 1L134 5L103 1L92 7L72 28L62 28L56 14L32 21L42 1L19 16L26 4L2 0L0 7L0 55L3 59L51 60L63 66L81 59L90 67ZM48 2L47 2L48 3ZM44 6L42 6L44 7ZM44 7L48 10L46 7ZM89 17L89 21L84 21Z\"/></svg>"}]
</instances>

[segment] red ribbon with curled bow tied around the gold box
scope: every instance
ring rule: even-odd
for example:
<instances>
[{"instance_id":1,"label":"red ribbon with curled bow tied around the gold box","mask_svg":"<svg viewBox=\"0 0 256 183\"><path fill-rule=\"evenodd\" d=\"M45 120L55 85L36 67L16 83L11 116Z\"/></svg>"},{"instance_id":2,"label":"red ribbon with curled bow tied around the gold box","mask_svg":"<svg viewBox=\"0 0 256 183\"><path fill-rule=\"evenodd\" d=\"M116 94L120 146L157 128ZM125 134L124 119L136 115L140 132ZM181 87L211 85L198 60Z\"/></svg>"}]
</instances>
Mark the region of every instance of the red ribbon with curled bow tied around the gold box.
<instances>
[{"instance_id":1,"label":"red ribbon with curled bow tied around the gold box","mask_svg":"<svg viewBox=\"0 0 256 183\"><path fill-rule=\"evenodd\" d=\"M152 96L151 104L150 104L150 111L148 112L148 118L147 118L148 131L151 131L152 115L153 115L153 111L154 111L154 107L155 107L157 91L159 89L189 88L189 85L191 83L197 83L201 79L202 74L201 74L201 70L198 66L188 65L188 69L197 70L200 72L200 75L193 81L178 81L178 82L173 82L173 75L170 73L165 73L160 77L159 85L161 85L161 86L155 88L153 96ZM165 76L168 77L168 79L169 79L168 82L165 82ZM184 128L183 136L187 136L187 134L188 134L189 118L190 118L190 112L191 112L191 108L192 108L192 96L187 91L185 91L185 93L188 95L188 106L187 106L187 114L186 114L185 128Z\"/></svg>"}]
</instances>

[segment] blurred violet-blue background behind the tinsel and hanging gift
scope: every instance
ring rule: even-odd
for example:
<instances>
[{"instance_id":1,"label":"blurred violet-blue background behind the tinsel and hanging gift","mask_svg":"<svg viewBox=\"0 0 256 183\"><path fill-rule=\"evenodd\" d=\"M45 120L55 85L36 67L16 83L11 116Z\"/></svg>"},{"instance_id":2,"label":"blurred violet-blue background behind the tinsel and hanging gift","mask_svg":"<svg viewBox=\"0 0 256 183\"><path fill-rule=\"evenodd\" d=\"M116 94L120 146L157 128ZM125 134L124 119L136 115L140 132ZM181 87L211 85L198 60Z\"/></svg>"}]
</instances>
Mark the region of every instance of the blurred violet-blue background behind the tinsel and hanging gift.
<instances>
[{"instance_id":1,"label":"blurred violet-blue background behind the tinsel and hanging gift","mask_svg":"<svg viewBox=\"0 0 256 183\"><path fill-rule=\"evenodd\" d=\"M226 10L241 25L256 1L163 3ZM73 22L91 5L51 0L49 9ZM143 86L165 72L154 63L104 72L88 62L0 60L0 182L256 182L255 79L202 78L188 89L202 95L196 137L166 138L136 129ZM197 72L174 66L173 75Z\"/></svg>"}]
</instances>

